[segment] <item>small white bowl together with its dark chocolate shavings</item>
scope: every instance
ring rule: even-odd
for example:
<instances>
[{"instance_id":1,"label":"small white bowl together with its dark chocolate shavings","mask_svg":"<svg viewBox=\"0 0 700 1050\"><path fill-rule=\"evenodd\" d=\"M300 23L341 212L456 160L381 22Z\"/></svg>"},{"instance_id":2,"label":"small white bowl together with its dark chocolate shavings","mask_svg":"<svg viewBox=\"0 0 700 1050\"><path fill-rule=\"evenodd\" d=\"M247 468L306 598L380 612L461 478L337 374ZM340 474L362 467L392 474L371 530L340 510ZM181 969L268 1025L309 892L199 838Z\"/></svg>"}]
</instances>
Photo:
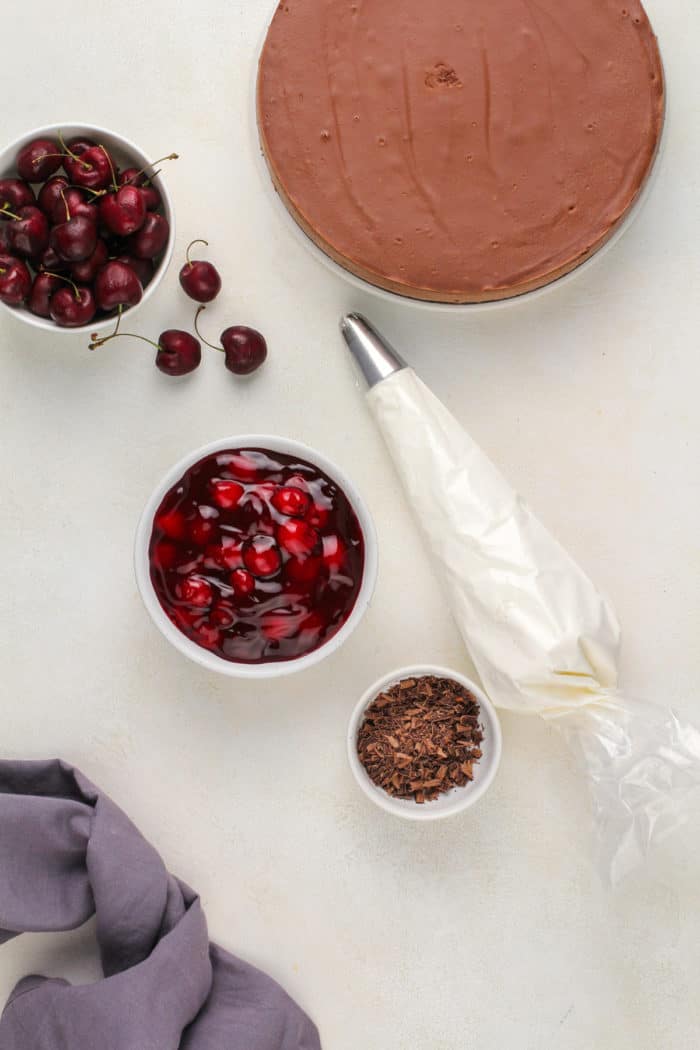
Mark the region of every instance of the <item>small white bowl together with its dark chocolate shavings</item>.
<instances>
[{"instance_id":1,"label":"small white bowl together with its dark chocolate shavings","mask_svg":"<svg viewBox=\"0 0 700 1050\"><path fill-rule=\"evenodd\" d=\"M375 682L356 707L347 755L365 795L405 820L440 820L473 805L501 762L495 708L464 675L428 665Z\"/></svg>"}]
</instances>

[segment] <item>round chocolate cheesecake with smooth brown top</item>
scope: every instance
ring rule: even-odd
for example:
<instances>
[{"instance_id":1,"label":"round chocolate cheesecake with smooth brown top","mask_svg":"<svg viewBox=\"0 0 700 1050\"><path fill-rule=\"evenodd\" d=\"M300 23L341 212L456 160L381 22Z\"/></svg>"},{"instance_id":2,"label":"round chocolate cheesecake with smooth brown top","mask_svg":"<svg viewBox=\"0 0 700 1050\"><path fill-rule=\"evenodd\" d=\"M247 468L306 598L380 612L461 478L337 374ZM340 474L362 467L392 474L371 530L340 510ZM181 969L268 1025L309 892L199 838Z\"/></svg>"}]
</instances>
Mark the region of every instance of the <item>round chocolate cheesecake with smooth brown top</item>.
<instances>
[{"instance_id":1,"label":"round chocolate cheesecake with smooth brown top","mask_svg":"<svg viewBox=\"0 0 700 1050\"><path fill-rule=\"evenodd\" d=\"M257 105L275 187L331 258L480 302L617 229L658 148L663 70L638 0L287 0Z\"/></svg>"}]
</instances>

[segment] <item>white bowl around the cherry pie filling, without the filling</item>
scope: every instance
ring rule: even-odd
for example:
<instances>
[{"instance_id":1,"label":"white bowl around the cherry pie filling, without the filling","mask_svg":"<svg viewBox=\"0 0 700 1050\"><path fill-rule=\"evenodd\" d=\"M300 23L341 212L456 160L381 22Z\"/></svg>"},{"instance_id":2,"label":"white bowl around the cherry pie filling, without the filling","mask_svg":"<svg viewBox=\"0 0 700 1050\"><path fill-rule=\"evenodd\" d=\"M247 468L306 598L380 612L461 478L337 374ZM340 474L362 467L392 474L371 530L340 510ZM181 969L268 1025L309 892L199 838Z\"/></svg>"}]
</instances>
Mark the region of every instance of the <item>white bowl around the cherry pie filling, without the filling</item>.
<instances>
[{"instance_id":1,"label":"white bowl around the cherry pie filling, without the filling","mask_svg":"<svg viewBox=\"0 0 700 1050\"><path fill-rule=\"evenodd\" d=\"M201 646L196 645L196 643L183 634L169 620L151 583L148 547L153 529L153 519L164 496L179 481L189 467L212 453L224 452L227 448L269 448L271 452L283 453L288 456L298 456L299 459L306 460L314 466L319 467L342 488L358 517L362 529L365 555L364 572L360 591L351 615L332 638L313 652L306 653L304 656L299 656L296 659L270 664L237 664L222 659L208 649L203 649ZM203 445L201 448L194 449L194 452L189 453L179 460L178 463L175 463L165 477L162 478L146 504L136 529L134 566L139 590L151 620L168 642L175 649L178 649L181 653L210 671L217 671L219 674L226 674L233 678L281 678L288 674L305 671L307 668L313 667L336 652L347 640L364 616L372 602L377 583L377 532L364 500L353 482L335 463L332 463L321 453L301 444L299 441L292 441L289 438L275 437L270 434L234 435L230 438L222 438L219 441L212 441L208 445Z\"/></svg>"}]
</instances>

